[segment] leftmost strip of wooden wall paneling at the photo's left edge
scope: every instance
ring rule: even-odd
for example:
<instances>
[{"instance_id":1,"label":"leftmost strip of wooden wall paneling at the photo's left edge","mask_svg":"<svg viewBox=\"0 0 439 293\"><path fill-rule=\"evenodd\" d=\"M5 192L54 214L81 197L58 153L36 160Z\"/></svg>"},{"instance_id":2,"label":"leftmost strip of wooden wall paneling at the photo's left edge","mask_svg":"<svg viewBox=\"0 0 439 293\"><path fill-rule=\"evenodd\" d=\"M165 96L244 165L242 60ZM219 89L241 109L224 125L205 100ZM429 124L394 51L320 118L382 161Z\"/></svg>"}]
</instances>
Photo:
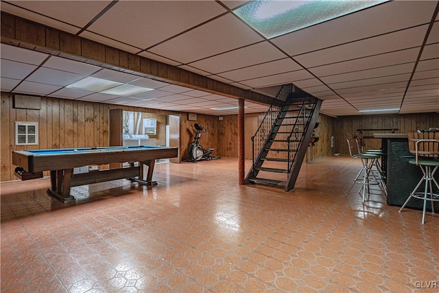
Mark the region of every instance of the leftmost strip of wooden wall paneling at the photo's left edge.
<instances>
[{"instance_id":1,"label":"leftmost strip of wooden wall paneling at the photo's left edge","mask_svg":"<svg viewBox=\"0 0 439 293\"><path fill-rule=\"evenodd\" d=\"M0 106L0 125L1 131L0 133L0 141L1 141L1 148L0 148L0 162L1 162L1 169L0 169L0 180L10 180L11 176L11 152L10 152L10 146L12 145L10 139L10 129L11 129L11 123L12 119L10 117L10 109L12 106L10 103L12 102L12 99L10 99L10 95L8 94L1 94L1 106ZM9 131L7 131L9 130Z\"/></svg>"}]
</instances>

